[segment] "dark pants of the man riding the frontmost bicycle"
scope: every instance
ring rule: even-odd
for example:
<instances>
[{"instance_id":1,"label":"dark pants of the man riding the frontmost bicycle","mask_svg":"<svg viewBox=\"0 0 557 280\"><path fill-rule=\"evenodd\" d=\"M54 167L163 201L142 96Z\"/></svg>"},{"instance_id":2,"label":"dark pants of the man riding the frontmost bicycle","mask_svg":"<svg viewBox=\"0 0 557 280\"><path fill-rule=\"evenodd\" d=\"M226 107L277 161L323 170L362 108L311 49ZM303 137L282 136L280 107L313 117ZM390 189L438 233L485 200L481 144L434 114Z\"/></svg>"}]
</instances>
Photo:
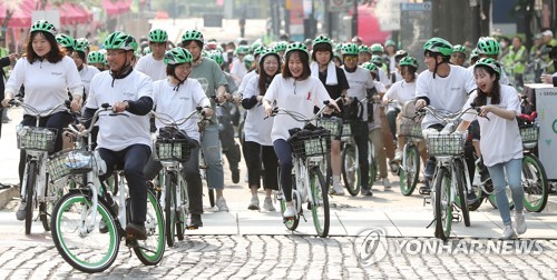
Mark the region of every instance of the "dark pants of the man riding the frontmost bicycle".
<instances>
[{"instance_id":1,"label":"dark pants of the man riding the frontmost bicycle","mask_svg":"<svg viewBox=\"0 0 557 280\"><path fill-rule=\"evenodd\" d=\"M147 183L143 169L150 156L150 148L145 144L131 144L121 151L98 148L100 158L107 166L106 174L100 180L106 180L114 172L115 167L124 168L124 176L128 182L129 198L131 199L131 221L144 223L147 216Z\"/></svg>"}]
</instances>

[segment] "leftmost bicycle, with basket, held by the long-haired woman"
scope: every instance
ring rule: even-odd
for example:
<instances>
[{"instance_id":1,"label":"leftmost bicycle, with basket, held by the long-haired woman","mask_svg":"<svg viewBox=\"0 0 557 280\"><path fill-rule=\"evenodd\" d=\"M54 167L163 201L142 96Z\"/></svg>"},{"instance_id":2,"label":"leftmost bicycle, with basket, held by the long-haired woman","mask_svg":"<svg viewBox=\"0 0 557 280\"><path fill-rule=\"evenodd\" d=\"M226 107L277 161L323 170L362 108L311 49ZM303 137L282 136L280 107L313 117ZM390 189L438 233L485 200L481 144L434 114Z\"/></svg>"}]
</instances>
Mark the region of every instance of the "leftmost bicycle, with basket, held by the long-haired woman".
<instances>
[{"instance_id":1,"label":"leftmost bicycle, with basket, held by the long-haired woman","mask_svg":"<svg viewBox=\"0 0 557 280\"><path fill-rule=\"evenodd\" d=\"M42 228L50 230L51 206L59 199L57 190L49 190L47 161L48 153L52 152L56 143L57 130L52 128L39 127L40 119L52 114L61 107L69 108L69 101L65 101L52 109L39 112L33 107L12 99L10 106L20 106L26 111L33 113L36 118L35 127L18 126L18 148L26 151L27 161L21 182L21 197L26 203L26 234L31 233L32 221L40 219ZM33 219L33 210L39 208L39 217Z\"/></svg>"}]
</instances>

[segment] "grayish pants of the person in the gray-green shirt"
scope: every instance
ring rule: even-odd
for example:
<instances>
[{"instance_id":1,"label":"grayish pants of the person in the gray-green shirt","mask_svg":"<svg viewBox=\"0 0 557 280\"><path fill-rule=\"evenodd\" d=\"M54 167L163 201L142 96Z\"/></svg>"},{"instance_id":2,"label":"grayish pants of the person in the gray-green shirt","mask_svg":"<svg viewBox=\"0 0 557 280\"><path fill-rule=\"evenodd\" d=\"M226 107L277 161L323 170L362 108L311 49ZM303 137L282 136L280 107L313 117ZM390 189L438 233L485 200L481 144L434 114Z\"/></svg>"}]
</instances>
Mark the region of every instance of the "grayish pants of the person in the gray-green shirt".
<instances>
[{"instance_id":1,"label":"grayish pants of the person in the gray-green shirt","mask_svg":"<svg viewBox=\"0 0 557 280\"><path fill-rule=\"evenodd\" d=\"M221 139L218 126L211 124L205 128L202 139L203 154L207 164L207 184L209 189L224 189L223 158L221 153Z\"/></svg>"}]
</instances>

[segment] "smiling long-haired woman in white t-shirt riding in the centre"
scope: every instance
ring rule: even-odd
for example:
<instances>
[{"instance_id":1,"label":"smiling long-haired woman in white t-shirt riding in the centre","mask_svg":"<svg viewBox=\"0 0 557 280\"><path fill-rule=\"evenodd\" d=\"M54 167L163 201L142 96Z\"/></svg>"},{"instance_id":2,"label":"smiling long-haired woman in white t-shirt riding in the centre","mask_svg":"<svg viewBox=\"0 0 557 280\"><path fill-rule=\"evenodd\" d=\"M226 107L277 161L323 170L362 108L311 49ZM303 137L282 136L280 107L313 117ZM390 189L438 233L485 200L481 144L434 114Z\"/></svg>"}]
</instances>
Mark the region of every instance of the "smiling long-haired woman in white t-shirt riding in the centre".
<instances>
[{"instance_id":1,"label":"smiling long-haired woman in white t-shirt riding in the centre","mask_svg":"<svg viewBox=\"0 0 557 280\"><path fill-rule=\"evenodd\" d=\"M314 106L323 107L323 102L326 100L340 111L334 100L330 99L321 81L311 76L310 53L305 44L300 42L289 44L284 56L286 64L282 69L282 74L273 79L263 97L265 114L273 113L274 102L277 107L302 113L305 118L312 118ZM356 57L358 52L354 57L354 63L358 60ZM292 202L292 149L286 140L290 138L290 129L302 127L302 122L292 119L289 114L277 114L273 118L271 139L281 167L280 183L286 201L284 218L296 216Z\"/></svg>"}]
</instances>

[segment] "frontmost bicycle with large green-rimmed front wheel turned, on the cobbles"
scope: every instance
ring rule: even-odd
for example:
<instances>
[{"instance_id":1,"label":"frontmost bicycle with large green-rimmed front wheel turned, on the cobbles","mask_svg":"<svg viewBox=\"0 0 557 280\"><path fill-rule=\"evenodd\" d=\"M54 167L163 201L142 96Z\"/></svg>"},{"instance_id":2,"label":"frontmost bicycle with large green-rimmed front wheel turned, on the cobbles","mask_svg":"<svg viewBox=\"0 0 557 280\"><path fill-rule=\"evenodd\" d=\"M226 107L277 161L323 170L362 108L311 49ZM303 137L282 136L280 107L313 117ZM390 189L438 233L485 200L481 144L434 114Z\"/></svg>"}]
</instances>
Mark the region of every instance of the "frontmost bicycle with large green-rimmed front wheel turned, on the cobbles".
<instances>
[{"instance_id":1,"label":"frontmost bicycle with large green-rimmed front wheel turned, on the cobbles","mask_svg":"<svg viewBox=\"0 0 557 280\"><path fill-rule=\"evenodd\" d=\"M107 114L100 117L114 116L110 113L111 107L104 103L95 112L88 129L81 132L71 126L69 129L78 138L87 137L102 112ZM119 114L121 113L116 116ZM88 144L90 148L90 137ZM87 184L77 180L76 188L58 200L52 212L52 240L66 262L88 273L104 271L116 260L123 238L144 264L155 266L160 262L165 251L165 221L153 189L147 189L147 239L128 238L124 227L130 219L130 203L123 171L117 171L119 198L116 203L107 191L107 186L99 181L99 176L106 171L106 163L97 151L74 150L59 157L55 160L58 166L52 167L53 169L67 170L69 174L87 174Z\"/></svg>"}]
</instances>

